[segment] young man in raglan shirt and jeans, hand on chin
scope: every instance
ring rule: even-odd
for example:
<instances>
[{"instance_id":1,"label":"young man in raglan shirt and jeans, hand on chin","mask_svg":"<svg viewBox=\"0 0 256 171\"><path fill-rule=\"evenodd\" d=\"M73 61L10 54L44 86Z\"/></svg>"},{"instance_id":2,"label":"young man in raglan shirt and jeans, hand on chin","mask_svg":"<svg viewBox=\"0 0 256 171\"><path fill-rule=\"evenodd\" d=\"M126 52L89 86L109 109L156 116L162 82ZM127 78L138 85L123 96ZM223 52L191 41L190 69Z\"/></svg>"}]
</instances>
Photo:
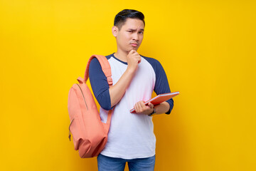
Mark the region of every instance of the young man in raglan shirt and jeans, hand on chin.
<instances>
[{"instance_id":1,"label":"young man in raglan shirt and jeans, hand on chin","mask_svg":"<svg viewBox=\"0 0 256 171\"><path fill-rule=\"evenodd\" d=\"M174 101L144 105L156 94L170 93L164 68L159 61L139 55L144 37L144 14L124 9L114 18L112 34L117 52L106 56L110 62L113 86L96 58L90 63L89 77L93 93L100 103L100 117L107 122L107 110L114 108L107 144L97 157L98 170L154 170L156 138L152 115L171 113ZM135 109L136 113L129 110Z\"/></svg>"}]
</instances>

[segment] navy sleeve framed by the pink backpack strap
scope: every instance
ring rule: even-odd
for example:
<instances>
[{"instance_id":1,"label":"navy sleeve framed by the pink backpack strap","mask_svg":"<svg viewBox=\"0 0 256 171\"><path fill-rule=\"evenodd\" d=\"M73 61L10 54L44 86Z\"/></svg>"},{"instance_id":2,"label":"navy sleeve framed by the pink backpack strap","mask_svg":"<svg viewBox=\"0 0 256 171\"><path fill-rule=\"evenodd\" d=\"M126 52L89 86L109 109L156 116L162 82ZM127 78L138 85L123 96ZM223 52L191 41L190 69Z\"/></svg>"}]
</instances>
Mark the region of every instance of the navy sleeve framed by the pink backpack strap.
<instances>
[{"instance_id":1,"label":"navy sleeve framed by the pink backpack strap","mask_svg":"<svg viewBox=\"0 0 256 171\"><path fill-rule=\"evenodd\" d=\"M92 91L100 106L105 110L111 109L110 86L107 83L107 77L102 71L100 62L93 58L89 67L89 78Z\"/></svg>"}]
</instances>

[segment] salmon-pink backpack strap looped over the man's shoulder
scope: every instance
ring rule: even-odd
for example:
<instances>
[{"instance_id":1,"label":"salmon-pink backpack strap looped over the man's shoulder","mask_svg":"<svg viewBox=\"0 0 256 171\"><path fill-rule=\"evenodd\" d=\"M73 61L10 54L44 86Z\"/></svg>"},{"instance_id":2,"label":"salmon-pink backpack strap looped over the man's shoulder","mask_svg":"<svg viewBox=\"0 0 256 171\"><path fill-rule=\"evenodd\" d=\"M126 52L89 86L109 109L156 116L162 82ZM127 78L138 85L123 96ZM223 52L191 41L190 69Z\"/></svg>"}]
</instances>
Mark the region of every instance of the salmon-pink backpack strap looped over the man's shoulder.
<instances>
[{"instance_id":1,"label":"salmon-pink backpack strap looped over the man's shoulder","mask_svg":"<svg viewBox=\"0 0 256 171\"><path fill-rule=\"evenodd\" d=\"M89 61L87 62L87 66L85 69L85 82L89 78L89 66L90 62L92 61L93 58L97 58L97 60L100 62L100 66L102 67L102 71L105 73L105 76L107 77L107 83L109 85L113 84L112 78L111 78L111 68L110 68L110 63L107 61L107 58L105 56L100 56L100 55L92 55L89 58Z\"/></svg>"}]
</instances>

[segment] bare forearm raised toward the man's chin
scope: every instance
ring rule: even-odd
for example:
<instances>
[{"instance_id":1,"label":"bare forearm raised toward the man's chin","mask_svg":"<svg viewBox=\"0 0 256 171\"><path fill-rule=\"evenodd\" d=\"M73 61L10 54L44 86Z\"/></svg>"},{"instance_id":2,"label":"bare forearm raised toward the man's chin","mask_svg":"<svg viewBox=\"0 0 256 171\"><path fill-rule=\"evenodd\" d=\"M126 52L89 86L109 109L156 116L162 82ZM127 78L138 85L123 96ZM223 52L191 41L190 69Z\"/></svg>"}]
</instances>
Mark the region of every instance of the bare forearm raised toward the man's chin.
<instances>
[{"instance_id":1,"label":"bare forearm raised toward the man's chin","mask_svg":"<svg viewBox=\"0 0 256 171\"><path fill-rule=\"evenodd\" d=\"M117 81L114 86L110 86L110 100L111 100L111 108L116 105L119 100L122 99L129 83L131 83L132 78L134 76L135 71L127 68L124 74L121 76L119 81Z\"/></svg>"}]
</instances>

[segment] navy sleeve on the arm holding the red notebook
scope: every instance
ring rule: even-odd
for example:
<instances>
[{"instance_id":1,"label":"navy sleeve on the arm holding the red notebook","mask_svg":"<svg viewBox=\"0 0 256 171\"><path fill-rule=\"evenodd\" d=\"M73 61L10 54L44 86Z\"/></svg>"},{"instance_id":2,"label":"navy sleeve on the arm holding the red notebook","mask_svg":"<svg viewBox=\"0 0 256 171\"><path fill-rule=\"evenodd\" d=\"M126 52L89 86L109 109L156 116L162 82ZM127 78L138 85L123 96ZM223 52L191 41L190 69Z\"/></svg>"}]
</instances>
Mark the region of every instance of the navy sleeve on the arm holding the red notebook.
<instances>
[{"instance_id":1,"label":"navy sleeve on the arm holding the red notebook","mask_svg":"<svg viewBox=\"0 0 256 171\"><path fill-rule=\"evenodd\" d=\"M161 66L161 63L154 58L147 58L147 57L144 57L144 58L146 59L146 61L148 61L151 64L151 66L154 68L154 71L156 73L156 83L154 86L154 92L156 93L156 95L163 94L163 93L171 93L168 79L163 66ZM171 110L174 108L174 100L171 98L169 100L166 100L166 102L169 103L170 105L169 111L166 112L166 114L170 114Z\"/></svg>"}]
</instances>

